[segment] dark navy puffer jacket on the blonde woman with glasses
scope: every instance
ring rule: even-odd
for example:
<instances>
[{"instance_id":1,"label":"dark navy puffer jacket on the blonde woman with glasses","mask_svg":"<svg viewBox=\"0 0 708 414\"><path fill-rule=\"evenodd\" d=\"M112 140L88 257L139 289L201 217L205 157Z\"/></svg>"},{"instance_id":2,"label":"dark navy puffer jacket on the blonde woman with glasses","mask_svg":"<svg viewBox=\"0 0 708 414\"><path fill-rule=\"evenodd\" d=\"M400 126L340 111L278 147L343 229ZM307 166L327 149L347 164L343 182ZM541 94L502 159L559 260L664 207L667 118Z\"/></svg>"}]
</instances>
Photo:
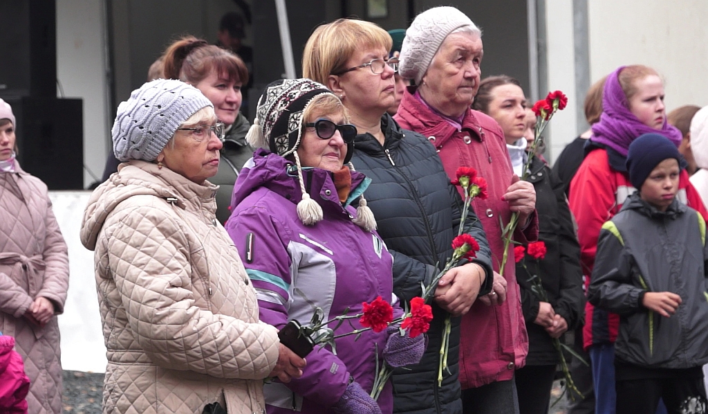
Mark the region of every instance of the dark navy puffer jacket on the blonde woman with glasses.
<instances>
[{"instance_id":1,"label":"dark navy puffer jacket on the blonde woman with glasses","mask_svg":"<svg viewBox=\"0 0 708 414\"><path fill-rule=\"evenodd\" d=\"M384 146L370 134L358 135L352 162L373 180L365 192L376 216L378 232L394 257L394 293L410 301L421 295L435 271L452 256L462 199L442 168L433 145L422 135L402 130L388 115L382 118ZM465 226L478 242L475 262L486 271L480 294L491 290L491 251L473 211ZM459 372L459 318L452 318L450 374L438 387L438 352L445 311L433 304L428 349L420 364L394 372L394 413L462 413Z\"/></svg>"}]
</instances>

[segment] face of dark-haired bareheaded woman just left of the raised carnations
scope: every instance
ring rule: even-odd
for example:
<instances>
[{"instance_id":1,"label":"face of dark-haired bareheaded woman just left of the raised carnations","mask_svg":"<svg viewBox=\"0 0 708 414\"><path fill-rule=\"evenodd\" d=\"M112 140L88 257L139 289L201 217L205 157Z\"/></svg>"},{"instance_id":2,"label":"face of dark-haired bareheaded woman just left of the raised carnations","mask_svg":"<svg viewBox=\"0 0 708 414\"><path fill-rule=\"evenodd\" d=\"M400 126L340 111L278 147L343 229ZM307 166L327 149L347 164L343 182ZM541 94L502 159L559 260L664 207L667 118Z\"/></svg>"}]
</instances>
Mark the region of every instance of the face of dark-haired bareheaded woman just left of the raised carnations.
<instances>
[{"instance_id":1,"label":"face of dark-haired bareheaded woman just left of the raised carnations","mask_svg":"<svg viewBox=\"0 0 708 414\"><path fill-rule=\"evenodd\" d=\"M515 84L499 85L491 90L488 115L501 126L507 144L513 144L524 136L525 103L524 91Z\"/></svg>"}]
</instances>

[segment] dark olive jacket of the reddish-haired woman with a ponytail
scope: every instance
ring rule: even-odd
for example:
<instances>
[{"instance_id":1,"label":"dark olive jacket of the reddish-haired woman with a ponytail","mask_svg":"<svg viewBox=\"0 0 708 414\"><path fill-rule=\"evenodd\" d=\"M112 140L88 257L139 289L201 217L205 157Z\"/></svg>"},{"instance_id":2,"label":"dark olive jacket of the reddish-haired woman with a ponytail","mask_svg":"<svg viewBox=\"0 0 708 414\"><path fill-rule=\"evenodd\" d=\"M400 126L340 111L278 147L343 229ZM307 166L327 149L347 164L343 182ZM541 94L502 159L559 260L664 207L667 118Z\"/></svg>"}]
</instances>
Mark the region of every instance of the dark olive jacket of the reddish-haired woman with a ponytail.
<instances>
[{"instance_id":1,"label":"dark olive jacket of the reddish-haired woman with a ponytail","mask_svg":"<svg viewBox=\"0 0 708 414\"><path fill-rule=\"evenodd\" d=\"M217 220L222 224L226 223L227 218L231 216L229 206L239 171L246 161L253 157L253 148L246 142L246 133L249 132L250 127L249 120L239 113L236 122L231 125L231 129L224 137L219 172L209 179L210 183L219 186L219 190L217 190Z\"/></svg>"}]
</instances>

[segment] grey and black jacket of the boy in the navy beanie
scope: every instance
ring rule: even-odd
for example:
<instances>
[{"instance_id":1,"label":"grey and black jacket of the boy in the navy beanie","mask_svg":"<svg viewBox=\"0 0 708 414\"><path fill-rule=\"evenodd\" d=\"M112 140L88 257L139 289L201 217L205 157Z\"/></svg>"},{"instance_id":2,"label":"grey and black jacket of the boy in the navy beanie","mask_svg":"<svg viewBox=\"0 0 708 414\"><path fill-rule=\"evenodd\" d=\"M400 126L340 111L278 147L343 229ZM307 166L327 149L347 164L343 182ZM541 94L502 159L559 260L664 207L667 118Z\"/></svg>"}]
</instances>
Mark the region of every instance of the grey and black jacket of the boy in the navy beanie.
<instances>
[{"instance_id":1,"label":"grey and black jacket of the boy in the navy beanie","mask_svg":"<svg viewBox=\"0 0 708 414\"><path fill-rule=\"evenodd\" d=\"M619 313L615 356L647 368L686 369L708 362L705 222L678 200L658 211L639 191L603 225L588 301ZM681 304L670 318L641 304L670 291Z\"/></svg>"}]
</instances>

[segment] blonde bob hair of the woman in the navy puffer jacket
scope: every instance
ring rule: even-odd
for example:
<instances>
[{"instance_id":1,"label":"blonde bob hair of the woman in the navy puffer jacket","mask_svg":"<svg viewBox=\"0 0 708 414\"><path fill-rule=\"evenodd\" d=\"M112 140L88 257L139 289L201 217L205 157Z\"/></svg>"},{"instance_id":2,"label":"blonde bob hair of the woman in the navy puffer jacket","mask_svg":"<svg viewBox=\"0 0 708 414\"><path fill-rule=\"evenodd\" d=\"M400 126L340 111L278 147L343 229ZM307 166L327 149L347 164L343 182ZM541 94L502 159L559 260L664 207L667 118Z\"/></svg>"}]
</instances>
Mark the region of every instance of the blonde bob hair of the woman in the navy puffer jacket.
<instances>
[{"instance_id":1,"label":"blonde bob hair of the woman in the navy puffer jacket","mask_svg":"<svg viewBox=\"0 0 708 414\"><path fill-rule=\"evenodd\" d=\"M321 84L333 73L348 69L348 60L359 50L391 50L389 33L370 21L340 18L314 30L302 52L302 76Z\"/></svg>"}]
</instances>

